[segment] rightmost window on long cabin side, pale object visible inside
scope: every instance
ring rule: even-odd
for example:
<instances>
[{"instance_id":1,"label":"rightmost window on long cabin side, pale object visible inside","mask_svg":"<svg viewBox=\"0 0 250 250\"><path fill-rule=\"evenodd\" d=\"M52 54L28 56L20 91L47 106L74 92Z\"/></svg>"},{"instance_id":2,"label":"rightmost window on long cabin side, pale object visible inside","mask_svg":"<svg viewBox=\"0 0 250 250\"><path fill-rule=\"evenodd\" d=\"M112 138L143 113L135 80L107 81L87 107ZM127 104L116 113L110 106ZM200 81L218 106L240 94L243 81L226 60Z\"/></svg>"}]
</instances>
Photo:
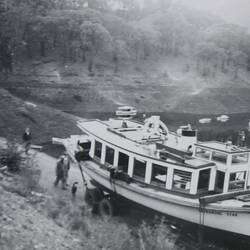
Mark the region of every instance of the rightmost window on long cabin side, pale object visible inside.
<instances>
[{"instance_id":1,"label":"rightmost window on long cabin side, pale object visible inside","mask_svg":"<svg viewBox=\"0 0 250 250\"><path fill-rule=\"evenodd\" d=\"M174 169L173 187L183 191L190 191L191 178L191 172Z\"/></svg>"}]
</instances>

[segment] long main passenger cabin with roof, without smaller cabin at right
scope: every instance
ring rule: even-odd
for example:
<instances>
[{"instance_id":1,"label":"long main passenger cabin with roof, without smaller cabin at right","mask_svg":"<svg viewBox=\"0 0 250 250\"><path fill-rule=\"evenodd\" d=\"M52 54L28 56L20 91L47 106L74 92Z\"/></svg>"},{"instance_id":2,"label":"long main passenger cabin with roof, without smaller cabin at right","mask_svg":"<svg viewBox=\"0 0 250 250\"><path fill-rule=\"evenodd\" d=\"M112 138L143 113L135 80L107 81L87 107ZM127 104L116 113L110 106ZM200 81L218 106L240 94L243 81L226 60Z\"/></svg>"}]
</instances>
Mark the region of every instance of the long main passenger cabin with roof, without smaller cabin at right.
<instances>
[{"instance_id":1,"label":"long main passenger cabin with roof, without smaller cabin at right","mask_svg":"<svg viewBox=\"0 0 250 250\"><path fill-rule=\"evenodd\" d=\"M132 182L170 193L196 197L214 191L214 163L192 157L186 149L174 148L173 138L168 144L164 133L150 130L145 134L142 124L127 121L127 127L122 128L120 123L121 120L92 120L78 124L89 135L90 157L102 169L115 169ZM193 142L196 132L184 129L172 136L180 142L182 137L183 142L190 142L190 138ZM176 146L180 142L173 143Z\"/></svg>"}]
</instances>

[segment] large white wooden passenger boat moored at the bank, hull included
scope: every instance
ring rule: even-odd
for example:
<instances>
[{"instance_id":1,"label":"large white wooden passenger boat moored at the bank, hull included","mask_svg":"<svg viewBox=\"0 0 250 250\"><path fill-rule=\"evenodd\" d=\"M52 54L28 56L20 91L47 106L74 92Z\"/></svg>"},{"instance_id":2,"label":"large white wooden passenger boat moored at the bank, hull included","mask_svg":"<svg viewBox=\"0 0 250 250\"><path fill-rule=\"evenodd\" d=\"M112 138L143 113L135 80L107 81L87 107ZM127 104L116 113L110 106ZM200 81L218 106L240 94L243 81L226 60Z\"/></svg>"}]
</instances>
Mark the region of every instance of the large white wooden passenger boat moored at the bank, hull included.
<instances>
[{"instance_id":1,"label":"large white wooden passenger boat moored at the bank, hull included","mask_svg":"<svg viewBox=\"0 0 250 250\"><path fill-rule=\"evenodd\" d=\"M250 235L249 149L199 142L190 125L171 132L158 116L125 122L80 121L84 136L55 139L72 158L77 141L88 143L91 160L78 159L88 189L95 186L163 214ZM110 198L98 197L102 208L112 208Z\"/></svg>"}]
</instances>

